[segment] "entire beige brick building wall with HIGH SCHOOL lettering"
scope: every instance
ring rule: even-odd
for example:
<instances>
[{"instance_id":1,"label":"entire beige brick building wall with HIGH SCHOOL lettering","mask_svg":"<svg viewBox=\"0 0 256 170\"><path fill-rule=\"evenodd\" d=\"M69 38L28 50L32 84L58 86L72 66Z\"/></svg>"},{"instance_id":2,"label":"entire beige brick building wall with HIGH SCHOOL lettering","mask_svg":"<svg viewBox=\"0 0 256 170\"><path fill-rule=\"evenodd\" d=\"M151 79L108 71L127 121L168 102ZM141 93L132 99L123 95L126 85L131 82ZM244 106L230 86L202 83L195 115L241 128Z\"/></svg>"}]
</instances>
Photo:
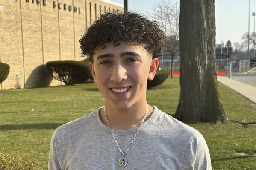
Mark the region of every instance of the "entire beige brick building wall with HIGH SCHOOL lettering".
<instances>
[{"instance_id":1,"label":"entire beige brick building wall with HIGH SCHOOL lettering","mask_svg":"<svg viewBox=\"0 0 256 170\"><path fill-rule=\"evenodd\" d=\"M45 63L83 60L79 40L99 16L100 7L123 11L107 0L1 0L0 6L0 62L10 65L0 90L61 85L52 80Z\"/></svg>"}]
</instances>

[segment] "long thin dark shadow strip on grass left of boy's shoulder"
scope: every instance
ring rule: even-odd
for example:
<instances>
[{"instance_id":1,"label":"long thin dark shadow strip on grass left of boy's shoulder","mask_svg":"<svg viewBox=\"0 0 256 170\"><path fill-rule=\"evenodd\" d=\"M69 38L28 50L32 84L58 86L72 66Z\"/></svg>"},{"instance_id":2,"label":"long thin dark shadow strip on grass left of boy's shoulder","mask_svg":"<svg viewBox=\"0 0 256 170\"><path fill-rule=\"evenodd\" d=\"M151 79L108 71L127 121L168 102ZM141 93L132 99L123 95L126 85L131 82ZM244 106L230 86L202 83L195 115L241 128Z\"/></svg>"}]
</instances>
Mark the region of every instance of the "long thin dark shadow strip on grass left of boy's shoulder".
<instances>
[{"instance_id":1,"label":"long thin dark shadow strip on grass left of boy's shoulder","mask_svg":"<svg viewBox=\"0 0 256 170\"><path fill-rule=\"evenodd\" d=\"M26 130L26 129L56 129L61 126L60 123L42 123L42 124L6 124L0 125L0 131L3 130Z\"/></svg>"}]
</instances>

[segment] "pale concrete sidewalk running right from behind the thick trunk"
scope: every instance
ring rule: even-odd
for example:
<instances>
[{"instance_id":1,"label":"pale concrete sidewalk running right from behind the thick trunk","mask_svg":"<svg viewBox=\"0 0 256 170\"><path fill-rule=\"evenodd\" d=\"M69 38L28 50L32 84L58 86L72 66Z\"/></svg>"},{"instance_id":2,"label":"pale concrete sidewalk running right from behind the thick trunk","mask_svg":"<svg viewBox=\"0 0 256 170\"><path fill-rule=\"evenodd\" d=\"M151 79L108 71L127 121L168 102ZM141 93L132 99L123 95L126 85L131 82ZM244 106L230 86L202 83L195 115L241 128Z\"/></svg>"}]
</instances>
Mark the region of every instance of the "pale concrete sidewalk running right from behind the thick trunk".
<instances>
[{"instance_id":1,"label":"pale concrete sidewalk running right from behind the thick trunk","mask_svg":"<svg viewBox=\"0 0 256 170\"><path fill-rule=\"evenodd\" d=\"M256 87L233 80L227 76L217 76L217 81L256 103Z\"/></svg>"}]
</instances>

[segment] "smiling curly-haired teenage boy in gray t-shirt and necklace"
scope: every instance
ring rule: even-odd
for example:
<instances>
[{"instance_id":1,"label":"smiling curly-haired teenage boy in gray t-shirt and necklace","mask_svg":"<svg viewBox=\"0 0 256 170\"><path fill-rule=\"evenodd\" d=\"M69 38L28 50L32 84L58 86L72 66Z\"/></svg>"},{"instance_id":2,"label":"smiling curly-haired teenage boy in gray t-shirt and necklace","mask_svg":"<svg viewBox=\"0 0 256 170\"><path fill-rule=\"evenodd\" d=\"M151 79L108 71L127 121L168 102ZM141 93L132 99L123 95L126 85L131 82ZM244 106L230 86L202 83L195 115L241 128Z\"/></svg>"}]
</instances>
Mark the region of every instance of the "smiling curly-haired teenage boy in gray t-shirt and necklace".
<instances>
[{"instance_id":1,"label":"smiling curly-haired teenage boy in gray t-shirt and necklace","mask_svg":"<svg viewBox=\"0 0 256 170\"><path fill-rule=\"evenodd\" d=\"M156 22L106 13L80 40L105 106L58 127L49 170L211 170L195 129L147 104L147 80L164 49Z\"/></svg>"}]
</instances>

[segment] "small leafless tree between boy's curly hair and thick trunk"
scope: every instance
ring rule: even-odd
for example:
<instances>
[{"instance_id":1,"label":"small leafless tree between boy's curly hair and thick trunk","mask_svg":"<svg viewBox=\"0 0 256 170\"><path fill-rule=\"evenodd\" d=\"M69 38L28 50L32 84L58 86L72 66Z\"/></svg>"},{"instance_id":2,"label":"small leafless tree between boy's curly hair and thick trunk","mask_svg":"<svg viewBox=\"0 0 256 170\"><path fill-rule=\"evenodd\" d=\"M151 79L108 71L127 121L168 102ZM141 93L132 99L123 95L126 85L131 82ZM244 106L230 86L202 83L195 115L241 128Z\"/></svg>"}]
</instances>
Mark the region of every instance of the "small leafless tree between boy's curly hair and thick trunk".
<instances>
[{"instance_id":1,"label":"small leafless tree between boy's curly hair and thick trunk","mask_svg":"<svg viewBox=\"0 0 256 170\"><path fill-rule=\"evenodd\" d=\"M170 0L162 0L153 8L151 17L162 23L165 30L165 43L171 55L171 77L173 77L174 55L179 48L179 3L172 4Z\"/></svg>"}]
</instances>

